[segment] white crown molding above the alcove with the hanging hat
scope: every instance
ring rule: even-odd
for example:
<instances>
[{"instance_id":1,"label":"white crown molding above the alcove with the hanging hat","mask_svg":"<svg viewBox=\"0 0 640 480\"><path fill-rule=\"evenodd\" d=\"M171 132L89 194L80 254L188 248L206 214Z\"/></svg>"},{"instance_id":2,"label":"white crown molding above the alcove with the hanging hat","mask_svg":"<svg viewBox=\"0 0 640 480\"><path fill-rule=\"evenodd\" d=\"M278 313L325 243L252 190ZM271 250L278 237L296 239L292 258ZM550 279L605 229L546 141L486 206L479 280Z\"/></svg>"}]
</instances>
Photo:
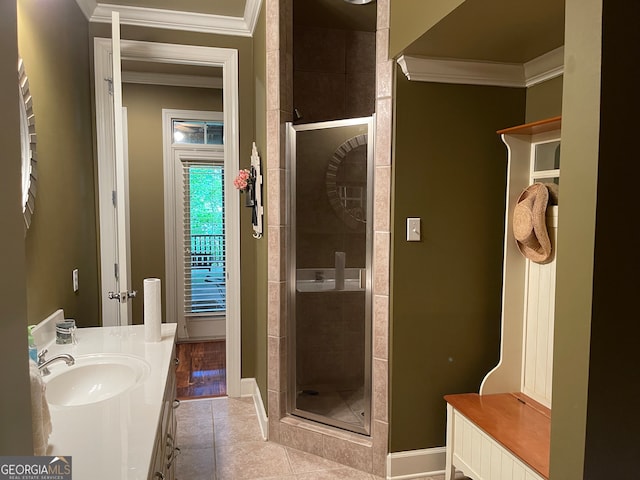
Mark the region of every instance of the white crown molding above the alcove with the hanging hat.
<instances>
[{"instance_id":1,"label":"white crown molding above the alcove with the hanging hat","mask_svg":"<svg viewBox=\"0 0 640 480\"><path fill-rule=\"evenodd\" d=\"M524 64L410 55L402 55L397 62L408 80L524 88L562 75L564 47L556 48Z\"/></svg>"}]
</instances>

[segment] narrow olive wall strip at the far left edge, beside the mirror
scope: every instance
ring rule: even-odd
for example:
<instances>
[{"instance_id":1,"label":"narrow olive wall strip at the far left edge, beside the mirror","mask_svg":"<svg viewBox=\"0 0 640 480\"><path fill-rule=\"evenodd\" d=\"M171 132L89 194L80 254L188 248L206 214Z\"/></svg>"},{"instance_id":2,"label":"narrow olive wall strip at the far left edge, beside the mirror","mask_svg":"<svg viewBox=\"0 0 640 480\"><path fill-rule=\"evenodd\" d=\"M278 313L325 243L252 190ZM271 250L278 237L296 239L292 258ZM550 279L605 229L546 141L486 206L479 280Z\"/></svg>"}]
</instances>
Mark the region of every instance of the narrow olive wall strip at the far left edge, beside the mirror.
<instances>
[{"instance_id":1,"label":"narrow olive wall strip at the far left edge, beside the mirror","mask_svg":"<svg viewBox=\"0 0 640 480\"><path fill-rule=\"evenodd\" d=\"M27 293L20 173L15 0L0 2L0 455L31 455Z\"/></svg>"}]
</instances>

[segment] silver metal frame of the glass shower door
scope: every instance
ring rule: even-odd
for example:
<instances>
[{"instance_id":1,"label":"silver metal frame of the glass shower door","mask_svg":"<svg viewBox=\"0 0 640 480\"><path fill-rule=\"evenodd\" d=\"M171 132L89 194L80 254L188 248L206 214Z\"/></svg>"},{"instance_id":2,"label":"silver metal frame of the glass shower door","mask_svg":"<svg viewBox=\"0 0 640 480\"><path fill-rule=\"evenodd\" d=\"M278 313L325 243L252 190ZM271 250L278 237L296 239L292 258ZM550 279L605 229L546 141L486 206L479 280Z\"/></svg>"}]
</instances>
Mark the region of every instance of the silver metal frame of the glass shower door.
<instances>
[{"instance_id":1,"label":"silver metal frame of the glass shower door","mask_svg":"<svg viewBox=\"0 0 640 480\"><path fill-rule=\"evenodd\" d=\"M306 410L296 408L297 397L297 370L296 370L296 133L328 128L350 127L356 125L367 126L367 213L365 229L365 348L364 348L364 425L362 427L342 422L324 415L319 415ZM344 120L329 120L294 125L286 123L286 161L288 163L289 196L289 249L287 255L287 279L288 279L288 395L287 414L299 418L317 422L323 425L337 427L350 432L371 436L371 399L372 391L372 324L373 324L373 203L374 203L374 172L375 172L375 114L370 117L357 117Z\"/></svg>"}]
</instances>

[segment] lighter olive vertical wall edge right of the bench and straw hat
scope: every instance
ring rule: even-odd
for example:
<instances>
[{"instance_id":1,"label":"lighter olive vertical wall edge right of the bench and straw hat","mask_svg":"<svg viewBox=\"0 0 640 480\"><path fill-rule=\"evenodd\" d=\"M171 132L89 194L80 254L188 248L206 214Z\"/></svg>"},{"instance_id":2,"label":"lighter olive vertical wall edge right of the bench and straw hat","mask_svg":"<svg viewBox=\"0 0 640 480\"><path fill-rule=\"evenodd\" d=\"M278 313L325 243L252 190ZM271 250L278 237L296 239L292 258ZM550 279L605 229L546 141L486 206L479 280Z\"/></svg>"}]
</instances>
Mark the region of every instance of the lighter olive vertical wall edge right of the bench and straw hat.
<instances>
[{"instance_id":1,"label":"lighter olive vertical wall edge right of the bench and straw hat","mask_svg":"<svg viewBox=\"0 0 640 480\"><path fill-rule=\"evenodd\" d=\"M592 315L595 305L593 300L600 292L594 291L594 248L596 233L596 204L600 201L598 192L598 170L606 168L606 165L599 166L599 137L600 130L600 71L601 71L601 23L602 23L602 0L567 0L565 4L565 58L568 60L564 72L563 104L562 104L562 153L560 163L562 165L562 212L558 224L558 256L556 273L556 313L554 331L554 365L553 365L553 418L551 423L551 462L550 476L552 479L563 478L586 478L584 477L585 461L585 430L587 428L587 400L588 394L597 395L589 386L590 349L592 343ZM629 25L630 28L631 25ZM589 32L585 35L584 32ZM624 75L623 75L624 76ZM633 78L630 77L629 80ZM616 85L614 88L620 88ZM634 87L635 88L635 87ZM622 120L626 111L618 112ZM634 116L635 118L635 116ZM611 118L607 119L609 122ZM621 121L620 125L624 122ZM637 123L637 122L636 122ZM637 126L634 125L635 128ZM616 127L617 128L617 127ZM632 133L632 136L634 133ZM622 139L622 138L621 138ZM609 162L614 158L609 158ZM624 193L625 188L629 188L633 181L624 172L617 172L617 185L614 191L618 191L622 196L620 202L613 207L607 215L598 210L598 224L602 216L603 223L608 225L612 220L614 223L617 215L625 209ZM631 190L635 188L631 187ZM627 198L629 198L627 196ZM608 217L608 218L607 218ZM614 233L615 232L615 233ZM615 228L609 232L616 237L621 230ZM608 243L606 237L603 239L605 245ZM624 244L630 241L625 235ZM631 243L629 243L630 245ZM614 247L621 249L620 245ZM625 258L622 263L616 265L616 275L611 287L598 285L602 292L602 299L609 297L610 312L607 314L607 321L611 321L612 331L616 332L618 338L615 343L608 347L609 353L615 357L609 359L595 357L602 362L598 369L604 365L624 365L620 373L616 368L609 368L608 375L612 375L616 381L620 376L625 378L622 383L626 389L633 385L633 379L629 376L637 371L637 359L631 362L619 363L619 355L626 355L624 348L637 351L636 345L629 346L629 342L636 343L627 328L619 330L618 322L630 319L630 309L625 312L624 318L618 319L617 314L620 309L626 309L629 301L622 296L613 297L611 292L605 292L610 288L624 288L625 281L629 281L628 272L623 265L633 264L633 257L627 256L629 252L620 253ZM609 252L609 255L616 255L616 252ZM605 257L600 257L604 259ZM601 266L602 268L602 266ZM604 272L606 272L606 267ZM611 275L606 275L606 280L611 281ZM633 282L632 282L633 283ZM614 286L615 285L615 286ZM624 292L624 290L622 290ZM622 293L621 292L621 293ZM636 296L635 294L633 295ZM614 299L615 298L615 299ZM620 305L616 305L621 302ZM615 310L613 310L615 309ZM635 315L637 317L637 315ZM602 319L600 319L602 321ZM615 322L615 323L614 323ZM611 341L609 336L605 337ZM606 347L605 347L606 348ZM612 350L614 350L612 352ZM616 358L617 357L617 358ZM634 356L635 357L635 356ZM625 359L627 360L627 359ZM594 363L594 366L595 363ZM629 376L629 377L627 377ZM637 376L636 376L637 390ZM614 391L617 390L614 389ZM604 393L604 392L603 392ZM607 390L607 393L612 393ZM590 396L590 395L589 395ZM607 421L615 410L620 409L616 401L610 409L596 409L599 411L590 412L603 415L603 420ZM625 409L626 411L626 409ZM630 412L632 413L632 412ZM636 414L637 417L637 414ZM633 425L631 417L624 420L624 423ZM614 428L624 428L620 423L615 423ZM617 441L617 435L607 435L603 441ZM628 446L630 448L631 445ZM637 442L632 447L637 454ZM595 453L595 458L602 461L602 452ZM635 455L637 456L637 455ZM617 468L619 457L610 457L606 462L608 467ZM636 468L635 466L632 468ZM591 478L615 478L615 475L604 475Z\"/></svg>"}]
</instances>

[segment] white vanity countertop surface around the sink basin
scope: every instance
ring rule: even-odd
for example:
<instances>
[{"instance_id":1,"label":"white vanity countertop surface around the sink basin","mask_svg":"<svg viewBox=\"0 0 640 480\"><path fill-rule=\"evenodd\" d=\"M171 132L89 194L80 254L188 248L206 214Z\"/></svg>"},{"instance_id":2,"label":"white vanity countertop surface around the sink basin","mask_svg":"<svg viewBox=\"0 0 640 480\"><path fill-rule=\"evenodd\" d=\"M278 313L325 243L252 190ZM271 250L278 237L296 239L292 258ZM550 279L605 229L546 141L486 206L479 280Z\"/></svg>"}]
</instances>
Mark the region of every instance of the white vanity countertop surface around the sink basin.
<instances>
[{"instance_id":1,"label":"white vanity countertop surface around the sink basin","mask_svg":"<svg viewBox=\"0 0 640 480\"><path fill-rule=\"evenodd\" d=\"M78 480L147 479L175 342L176 324L162 324L162 339L145 343L144 326L80 328L76 345L47 345L47 358L116 353L144 359L149 375L130 390L83 406L50 405L53 432L48 455L72 457ZM64 362L50 370L64 369Z\"/></svg>"}]
</instances>

